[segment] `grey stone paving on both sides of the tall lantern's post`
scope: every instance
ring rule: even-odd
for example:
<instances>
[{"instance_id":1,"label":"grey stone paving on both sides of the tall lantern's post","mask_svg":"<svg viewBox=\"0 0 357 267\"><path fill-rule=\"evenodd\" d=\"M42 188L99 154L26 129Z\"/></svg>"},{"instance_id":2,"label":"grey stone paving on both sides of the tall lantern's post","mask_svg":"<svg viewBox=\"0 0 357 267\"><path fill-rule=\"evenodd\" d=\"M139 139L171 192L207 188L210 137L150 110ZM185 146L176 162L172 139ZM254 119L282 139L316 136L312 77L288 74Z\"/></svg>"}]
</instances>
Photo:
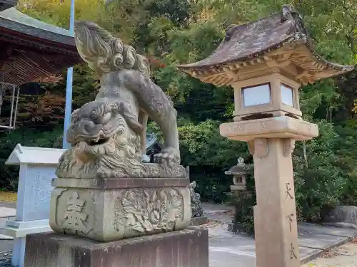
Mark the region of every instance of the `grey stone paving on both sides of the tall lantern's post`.
<instances>
[{"instance_id":1,"label":"grey stone paving on both sides of the tall lantern's post","mask_svg":"<svg viewBox=\"0 0 357 267\"><path fill-rule=\"evenodd\" d=\"M211 204L204 204L204 207L208 219L221 221L205 226L209 231L210 267L255 267L254 240L245 234L233 234L228 231L228 223L231 222L229 208ZM346 244L349 238L356 235L357 231L351 229L298 224L301 263L322 256L326 248ZM356 267L357 264L353 266Z\"/></svg>"}]
</instances>

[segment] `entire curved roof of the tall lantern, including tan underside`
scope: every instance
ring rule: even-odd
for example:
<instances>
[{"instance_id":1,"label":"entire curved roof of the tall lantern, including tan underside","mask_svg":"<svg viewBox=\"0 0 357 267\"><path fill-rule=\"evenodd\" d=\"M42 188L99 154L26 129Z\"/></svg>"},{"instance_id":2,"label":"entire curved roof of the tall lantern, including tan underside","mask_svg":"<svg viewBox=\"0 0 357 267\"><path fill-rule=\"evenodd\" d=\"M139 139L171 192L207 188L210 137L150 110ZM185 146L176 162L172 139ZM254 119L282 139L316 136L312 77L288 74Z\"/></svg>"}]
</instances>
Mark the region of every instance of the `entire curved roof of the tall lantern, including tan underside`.
<instances>
[{"instance_id":1,"label":"entire curved roof of the tall lantern, including tan underside","mask_svg":"<svg viewBox=\"0 0 357 267\"><path fill-rule=\"evenodd\" d=\"M293 69L290 74L301 83L353 70L353 66L331 63L318 56L301 15L288 5L258 21L229 27L221 44L208 58L180 65L178 69L204 82L227 85L243 80L239 69L258 64L282 70L290 65Z\"/></svg>"}]
</instances>

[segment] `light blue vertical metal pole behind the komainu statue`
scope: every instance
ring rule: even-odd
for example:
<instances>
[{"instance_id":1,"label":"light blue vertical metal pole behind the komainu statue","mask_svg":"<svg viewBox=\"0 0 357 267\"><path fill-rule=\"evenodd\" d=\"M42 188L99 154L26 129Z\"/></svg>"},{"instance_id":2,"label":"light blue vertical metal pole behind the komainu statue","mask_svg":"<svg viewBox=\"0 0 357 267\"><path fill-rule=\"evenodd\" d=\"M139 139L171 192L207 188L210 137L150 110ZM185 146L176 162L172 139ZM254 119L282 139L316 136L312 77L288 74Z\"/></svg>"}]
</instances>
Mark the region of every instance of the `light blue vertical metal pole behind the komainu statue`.
<instances>
[{"instance_id":1,"label":"light blue vertical metal pole behind the komainu statue","mask_svg":"<svg viewBox=\"0 0 357 267\"><path fill-rule=\"evenodd\" d=\"M74 0L71 0L71 11L69 16L69 33L74 36ZM66 132L71 123L72 114L72 83L73 83L73 67L67 70L67 85L66 85L66 108L64 111L64 139L63 148L71 147L71 144L66 141Z\"/></svg>"}]
</instances>

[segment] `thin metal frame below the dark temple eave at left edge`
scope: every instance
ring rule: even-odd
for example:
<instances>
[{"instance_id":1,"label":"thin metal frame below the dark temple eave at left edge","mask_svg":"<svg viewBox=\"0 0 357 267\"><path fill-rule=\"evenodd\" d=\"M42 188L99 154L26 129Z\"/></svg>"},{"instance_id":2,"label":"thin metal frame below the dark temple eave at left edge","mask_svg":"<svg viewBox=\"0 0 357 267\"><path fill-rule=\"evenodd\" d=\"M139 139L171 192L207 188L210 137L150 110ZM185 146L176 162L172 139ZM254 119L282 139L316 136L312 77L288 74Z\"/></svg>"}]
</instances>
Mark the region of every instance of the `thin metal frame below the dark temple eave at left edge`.
<instances>
[{"instance_id":1,"label":"thin metal frame below the dark temple eave at left edge","mask_svg":"<svg viewBox=\"0 0 357 267\"><path fill-rule=\"evenodd\" d=\"M16 117L17 117L17 108L19 104L19 91L20 88L17 85L11 83L0 82L0 115L1 108L4 100L4 95L10 93L11 95L11 110L9 115L9 125L0 125L1 129L14 130L16 127Z\"/></svg>"}]
</instances>

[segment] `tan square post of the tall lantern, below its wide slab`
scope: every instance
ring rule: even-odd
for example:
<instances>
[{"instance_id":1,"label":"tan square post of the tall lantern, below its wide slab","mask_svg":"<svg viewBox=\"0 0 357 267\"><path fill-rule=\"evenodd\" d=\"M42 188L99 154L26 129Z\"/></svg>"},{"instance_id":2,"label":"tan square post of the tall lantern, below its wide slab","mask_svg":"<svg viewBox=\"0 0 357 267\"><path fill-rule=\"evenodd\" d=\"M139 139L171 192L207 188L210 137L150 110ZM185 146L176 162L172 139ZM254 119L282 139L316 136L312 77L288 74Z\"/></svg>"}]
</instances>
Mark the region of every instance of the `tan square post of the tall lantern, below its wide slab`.
<instances>
[{"instance_id":1,"label":"tan square post of the tall lantern, below its wide slab","mask_svg":"<svg viewBox=\"0 0 357 267\"><path fill-rule=\"evenodd\" d=\"M257 202L254 208L256 264L259 267L298 267L291 159L295 141L258 138L252 142Z\"/></svg>"}]
</instances>

